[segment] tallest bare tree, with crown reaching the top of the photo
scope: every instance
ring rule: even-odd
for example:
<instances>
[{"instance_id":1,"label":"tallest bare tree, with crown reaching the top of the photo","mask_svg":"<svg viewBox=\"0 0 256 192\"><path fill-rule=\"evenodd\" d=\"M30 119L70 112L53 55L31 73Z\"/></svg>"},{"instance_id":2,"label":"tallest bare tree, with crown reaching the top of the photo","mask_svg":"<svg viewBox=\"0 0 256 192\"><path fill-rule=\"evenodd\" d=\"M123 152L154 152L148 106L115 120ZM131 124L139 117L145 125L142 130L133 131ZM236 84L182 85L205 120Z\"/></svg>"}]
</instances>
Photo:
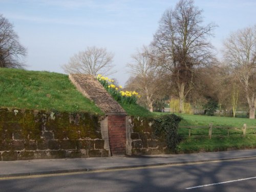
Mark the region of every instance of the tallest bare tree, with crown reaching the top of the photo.
<instances>
[{"instance_id":1,"label":"tallest bare tree, with crown reaching the top of the photo","mask_svg":"<svg viewBox=\"0 0 256 192\"><path fill-rule=\"evenodd\" d=\"M186 95L193 89L195 67L209 63L212 58L207 38L216 26L202 23L202 10L194 6L194 1L181 0L174 10L164 12L154 36L153 46L161 55L158 66L172 77L180 112L184 111Z\"/></svg>"}]
</instances>

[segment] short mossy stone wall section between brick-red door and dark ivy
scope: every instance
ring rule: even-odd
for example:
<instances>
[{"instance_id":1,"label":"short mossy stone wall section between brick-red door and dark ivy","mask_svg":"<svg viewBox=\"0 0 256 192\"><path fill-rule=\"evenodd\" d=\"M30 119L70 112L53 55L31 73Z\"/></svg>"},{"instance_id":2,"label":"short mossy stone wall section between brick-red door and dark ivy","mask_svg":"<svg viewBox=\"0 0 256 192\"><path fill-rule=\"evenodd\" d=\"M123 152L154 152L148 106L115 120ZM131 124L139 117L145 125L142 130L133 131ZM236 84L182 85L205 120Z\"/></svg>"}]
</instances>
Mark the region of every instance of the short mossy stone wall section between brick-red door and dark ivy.
<instances>
[{"instance_id":1,"label":"short mossy stone wall section between brick-red door and dark ivy","mask_svg":"<svg viewBox=\"0 0 256 192\"><path fill-rule=\"evenodd\" d=\"M126 118L126 154L157 155L170 153L164 137L156 136L153 119L141 117Z\"/></svg>"}]
</instances>

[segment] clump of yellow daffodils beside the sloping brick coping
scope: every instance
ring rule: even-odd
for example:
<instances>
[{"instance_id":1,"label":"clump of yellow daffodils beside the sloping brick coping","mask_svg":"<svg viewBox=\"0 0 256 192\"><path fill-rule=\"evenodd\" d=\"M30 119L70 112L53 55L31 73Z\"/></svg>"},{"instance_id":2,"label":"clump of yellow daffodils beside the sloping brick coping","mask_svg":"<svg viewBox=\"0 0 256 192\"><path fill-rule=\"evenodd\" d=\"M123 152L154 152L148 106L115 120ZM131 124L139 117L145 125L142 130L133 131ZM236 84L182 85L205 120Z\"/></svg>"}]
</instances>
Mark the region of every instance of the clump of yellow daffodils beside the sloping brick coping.
<instances>
[{"instance_id":1,"label":"clump of yellow daffodils beside the sloping brick coping","mask_svg":"<svg viewBox=\"0 0 256 192\"><path fill-rule=\"evenodd\" d=\"M137 98L140 96L135 91L122 91L122 86L116 86L114 80L102 75L97 76L97 80L102 84L102 86L108 91L112 97L118 101L125 104L135 104Z\"/></svg>"}]
</instances>

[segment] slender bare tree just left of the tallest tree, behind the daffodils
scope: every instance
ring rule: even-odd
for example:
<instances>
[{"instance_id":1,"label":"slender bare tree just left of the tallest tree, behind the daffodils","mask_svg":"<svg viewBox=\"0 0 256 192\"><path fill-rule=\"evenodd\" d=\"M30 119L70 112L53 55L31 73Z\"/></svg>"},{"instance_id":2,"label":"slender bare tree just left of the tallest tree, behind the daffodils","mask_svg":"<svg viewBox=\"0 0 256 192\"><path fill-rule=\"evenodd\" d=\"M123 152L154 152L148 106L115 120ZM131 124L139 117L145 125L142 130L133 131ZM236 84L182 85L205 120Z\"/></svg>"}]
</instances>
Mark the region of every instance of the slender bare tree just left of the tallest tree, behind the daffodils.
<instances>
[{"instance_id":1,"label":"slender bare tree just left of the tallest tree, behind the daffodils","mask_svg":"<svg viewBox=\"0 0 256 192\"><path fill-rule=\"evenodd\" d=\"M153 103L157 99L158 91L161 87L157 68L152 65L155 57L147 47L138 50L132 55L133 62L128 63L129 73L132 74L130 86L135 89L145 99L147 108L153 112Z\"/></svg>"}]
</instances>

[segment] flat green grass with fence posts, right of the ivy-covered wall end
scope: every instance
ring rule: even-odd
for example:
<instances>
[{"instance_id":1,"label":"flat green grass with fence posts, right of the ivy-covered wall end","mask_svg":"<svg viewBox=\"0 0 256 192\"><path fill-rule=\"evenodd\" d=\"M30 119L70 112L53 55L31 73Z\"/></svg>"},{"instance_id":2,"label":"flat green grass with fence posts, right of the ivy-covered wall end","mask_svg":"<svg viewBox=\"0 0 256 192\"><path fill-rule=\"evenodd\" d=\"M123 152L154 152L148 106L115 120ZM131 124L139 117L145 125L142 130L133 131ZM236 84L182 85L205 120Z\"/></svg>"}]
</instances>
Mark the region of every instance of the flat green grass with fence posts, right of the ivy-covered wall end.
<instances>
[{"instance_id":1,"label":"flat green grass with fence posts, right of the ivy-covered wall end","mask_svg":"<svg viewBox=\"0 0 256 192\"><path fill-rule=\"evenodd\" d=\"M256 147L256 120L232 117L210 117L181 115L183 120L178 129L181 153L214 152ZM209 139L209 124L212 123L212 137ZM247 125L243 136L243 125ZM191 135L188 137L191 127ZM253 128L254 127L254 128Z\"/></svg>"}]
</instances>

